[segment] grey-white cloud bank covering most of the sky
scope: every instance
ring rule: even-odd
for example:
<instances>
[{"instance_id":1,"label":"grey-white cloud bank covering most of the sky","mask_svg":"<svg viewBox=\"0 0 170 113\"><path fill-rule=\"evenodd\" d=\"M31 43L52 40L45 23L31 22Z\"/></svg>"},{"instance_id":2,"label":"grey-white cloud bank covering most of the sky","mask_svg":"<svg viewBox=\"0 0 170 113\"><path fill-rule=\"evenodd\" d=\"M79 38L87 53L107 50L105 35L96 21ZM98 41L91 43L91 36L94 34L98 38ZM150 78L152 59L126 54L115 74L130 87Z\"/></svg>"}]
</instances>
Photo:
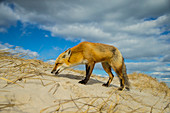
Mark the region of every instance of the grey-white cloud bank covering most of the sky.
<instances>
[{"instance_id":1,"label":"grey-white cloud bank covering most of the sky","mask_svg":"<svg viewBox=\"0 0 170 113\"><path fill-rule=\"evenodd\" d=\"M170 33L160 34L170 31L169 7L169 0L7 1L0 4L0 32L5 32L17 20L36 24L54 37L111 44L126 59L144 60L127 63L130 71L166 72L169 71Z\"/></svg>"}]
</instances>

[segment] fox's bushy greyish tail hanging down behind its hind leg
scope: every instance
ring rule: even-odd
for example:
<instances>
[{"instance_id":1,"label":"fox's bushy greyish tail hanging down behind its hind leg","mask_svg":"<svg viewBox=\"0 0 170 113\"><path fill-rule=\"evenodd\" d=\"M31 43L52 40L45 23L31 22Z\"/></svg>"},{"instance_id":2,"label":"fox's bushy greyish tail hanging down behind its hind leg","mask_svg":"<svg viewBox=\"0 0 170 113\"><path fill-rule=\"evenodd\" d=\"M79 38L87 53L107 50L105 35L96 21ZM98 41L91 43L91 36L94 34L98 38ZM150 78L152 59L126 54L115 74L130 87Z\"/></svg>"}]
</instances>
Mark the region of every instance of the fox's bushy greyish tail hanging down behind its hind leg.
<instances>
[{"instance_id":1,"label":"fox's bushy greyish tail hanging down behind its hind leg","mask_svg":"<svg viewBox=\"0 0 170 113\"><path fill-rule=\"evenodd\" d=\"M125 80L125 87L130 88L129 78L128 78L127 73L126 73L126 65L124 63L124 58L123 58L123 62L122 62L122 73L123 73L123 77L124 77L124 80Z\"/></svg>"}]
</instances>

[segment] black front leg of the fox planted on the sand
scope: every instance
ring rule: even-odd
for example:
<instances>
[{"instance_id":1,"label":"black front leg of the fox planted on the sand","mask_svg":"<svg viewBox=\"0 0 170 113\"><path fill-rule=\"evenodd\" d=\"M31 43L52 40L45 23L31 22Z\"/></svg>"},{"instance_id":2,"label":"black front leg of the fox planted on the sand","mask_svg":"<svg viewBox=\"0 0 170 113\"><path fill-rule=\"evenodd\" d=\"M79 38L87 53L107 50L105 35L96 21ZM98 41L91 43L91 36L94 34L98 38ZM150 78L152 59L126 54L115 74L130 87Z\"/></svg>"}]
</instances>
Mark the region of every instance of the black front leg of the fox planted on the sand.
<instances>
[{"instance_id":1,"label":"black front leg of the fox planted on the sand","mask_svg":"<svg viewBox=\"0 0 170 113\"><path fill-rule=\"evenodd\" d=\"M86 84L88 82L88 80L90 79L90 75L93 71L94 65L95 65L95 63L86 64L86 77L85 77L85 79L79 81L79 83Z\"/></svg>"}]
</instances>

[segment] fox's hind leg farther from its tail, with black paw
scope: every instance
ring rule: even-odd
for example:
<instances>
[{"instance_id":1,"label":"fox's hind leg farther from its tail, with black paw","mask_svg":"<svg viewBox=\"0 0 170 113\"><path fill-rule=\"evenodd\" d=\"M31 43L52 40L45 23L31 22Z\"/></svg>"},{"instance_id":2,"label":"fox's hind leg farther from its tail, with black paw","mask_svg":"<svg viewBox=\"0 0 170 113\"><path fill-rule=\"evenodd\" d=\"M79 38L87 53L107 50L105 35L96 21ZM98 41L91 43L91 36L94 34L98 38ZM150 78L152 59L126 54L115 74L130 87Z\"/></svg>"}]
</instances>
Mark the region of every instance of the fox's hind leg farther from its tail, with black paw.
<instances>
[{"instance_id":1,"label":"fox's hind leg farther from its tail, with black paw","mask_svg":"<svg viewBox=\"0 0 170 113\"><path fill-rule=\"evenodd\" d=\"M107 83L103 84L103 86L108 87L110 83L112 82L114 75L111 71L111 66L108 64L108 62L102 62L103 69L106 71L106 73L109 75L109 80Z\"/></svg>"}]
</instances>

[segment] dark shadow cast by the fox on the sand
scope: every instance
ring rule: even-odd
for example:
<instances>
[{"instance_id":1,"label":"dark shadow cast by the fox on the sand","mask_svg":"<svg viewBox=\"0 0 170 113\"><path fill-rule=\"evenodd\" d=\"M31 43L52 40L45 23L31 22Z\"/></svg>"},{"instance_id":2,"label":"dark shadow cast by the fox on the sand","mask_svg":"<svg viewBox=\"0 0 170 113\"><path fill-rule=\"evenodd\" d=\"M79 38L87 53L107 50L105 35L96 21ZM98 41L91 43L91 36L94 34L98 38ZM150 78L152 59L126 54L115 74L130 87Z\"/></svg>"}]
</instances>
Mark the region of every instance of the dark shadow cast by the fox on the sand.
<instances>
[{"instance_id":1,"label":"dark shadow cast by the fox on the sand","mask_svg":"<svg viewBox=\"0 0 170 113\"><path fill-rule=\"evenodd\" d=\"M83 80L85 78L84 76L78 76L78 75L73 75L73 74L59 74L59 75L55 75L55 76L74 79L74 80L79 80L79 81L81 81L81 80ZM100 80L97 80L97 79L94 79L94 78L90 78L86 85L93 85L93 84L97 84L97 83L101 83L101 85L102 85L102 84L104 84L106 82L107 81L104 82L104 81L100 81ZM113 85L113 84L110 84L109 87L118 88L118 86Z\"/></svg>"}]
</instances>

